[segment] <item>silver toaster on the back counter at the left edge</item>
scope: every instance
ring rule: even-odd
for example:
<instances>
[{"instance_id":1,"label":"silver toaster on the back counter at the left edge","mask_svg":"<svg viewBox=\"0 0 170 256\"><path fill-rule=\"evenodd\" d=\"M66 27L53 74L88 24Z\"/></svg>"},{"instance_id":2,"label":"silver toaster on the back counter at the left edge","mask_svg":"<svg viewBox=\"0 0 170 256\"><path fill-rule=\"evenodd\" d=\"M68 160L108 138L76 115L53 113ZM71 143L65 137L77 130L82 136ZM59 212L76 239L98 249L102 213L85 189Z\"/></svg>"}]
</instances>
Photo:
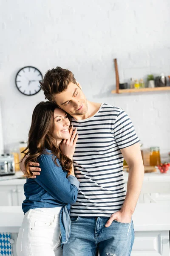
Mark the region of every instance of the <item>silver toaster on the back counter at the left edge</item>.
<instances>
[{"instance_id":1,"label":"silver toaster on the back counter at the left edge","mask_svg":"<svg viewBox=\"0 0 170 256\"><path fill-rule=\"evenodd\" d=\"M0 155L0 176L14 175L14 174L15 174L14 156L12 154L1 154Z\"/></svg>"}]
</instances>

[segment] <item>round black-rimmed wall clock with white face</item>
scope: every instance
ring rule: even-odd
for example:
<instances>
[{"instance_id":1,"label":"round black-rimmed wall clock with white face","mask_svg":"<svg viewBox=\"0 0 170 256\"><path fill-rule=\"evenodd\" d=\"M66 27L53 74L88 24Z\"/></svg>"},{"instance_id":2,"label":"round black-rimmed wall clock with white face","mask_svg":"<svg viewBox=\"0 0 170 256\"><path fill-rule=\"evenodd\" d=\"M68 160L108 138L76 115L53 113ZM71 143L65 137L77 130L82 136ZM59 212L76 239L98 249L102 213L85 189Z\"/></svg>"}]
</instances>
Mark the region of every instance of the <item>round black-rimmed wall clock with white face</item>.
<instances>
[{"instance_id":1,"label":"round black-rimmed wall clock with white face","mask_svg":"<svg viewBox=\"0 0 170 256\"><path fill-rule=\"evenodd\" d=\"M41 90L40 81L42 73L36 67L23 67L20 69L15 78L15 84L20 93L31 96Z\"/></svg>"}]
</instances>

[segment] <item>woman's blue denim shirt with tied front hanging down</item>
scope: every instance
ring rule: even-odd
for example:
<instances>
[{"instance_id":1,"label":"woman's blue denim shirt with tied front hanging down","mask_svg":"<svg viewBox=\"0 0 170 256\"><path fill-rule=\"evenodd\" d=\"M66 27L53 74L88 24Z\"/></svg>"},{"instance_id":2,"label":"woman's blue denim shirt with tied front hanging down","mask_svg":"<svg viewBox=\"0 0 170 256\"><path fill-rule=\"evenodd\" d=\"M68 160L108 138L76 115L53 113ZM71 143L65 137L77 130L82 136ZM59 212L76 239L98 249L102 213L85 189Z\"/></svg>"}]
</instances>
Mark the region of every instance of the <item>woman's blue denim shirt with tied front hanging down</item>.
<instances>
[{"instance_id":1,"label":"woman's blue denim shirt with tied front hanging down","mask_svg":"<svg viewBox=\"0 0 170 256\"><path fill-rule=\"evenodd\" d=\"M35 179L27 179L24 184L26 199L22 208L24 214L29 209L62 207L60 213L60 228L62 245L68 242L71 232L70 209L77 200L79 181L73 175L66 177L67 172L62 169L59 160L58 166L54 163L55 156L49 150L45 150L38 158L41 172Z\"/></svg>"}]
</instances>

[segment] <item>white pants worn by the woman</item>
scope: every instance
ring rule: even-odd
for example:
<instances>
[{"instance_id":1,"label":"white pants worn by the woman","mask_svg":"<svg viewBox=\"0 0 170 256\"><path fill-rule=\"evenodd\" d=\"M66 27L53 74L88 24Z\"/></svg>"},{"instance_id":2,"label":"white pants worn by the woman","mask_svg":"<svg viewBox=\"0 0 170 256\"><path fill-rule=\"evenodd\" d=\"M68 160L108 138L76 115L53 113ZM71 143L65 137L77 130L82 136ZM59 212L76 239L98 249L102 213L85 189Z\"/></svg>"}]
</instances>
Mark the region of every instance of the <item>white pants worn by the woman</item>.
<instances>
[{"instance_id":1,"label":"white pants worn by the woman","mask_svg":"<svg viewBox=\"0 0 170 256\"><path fill-rule=\"evenodd\" d=\"M17 238L17 256L62 256L61 209L37 208L26 212Z\"/></svg>"}]
</instances>

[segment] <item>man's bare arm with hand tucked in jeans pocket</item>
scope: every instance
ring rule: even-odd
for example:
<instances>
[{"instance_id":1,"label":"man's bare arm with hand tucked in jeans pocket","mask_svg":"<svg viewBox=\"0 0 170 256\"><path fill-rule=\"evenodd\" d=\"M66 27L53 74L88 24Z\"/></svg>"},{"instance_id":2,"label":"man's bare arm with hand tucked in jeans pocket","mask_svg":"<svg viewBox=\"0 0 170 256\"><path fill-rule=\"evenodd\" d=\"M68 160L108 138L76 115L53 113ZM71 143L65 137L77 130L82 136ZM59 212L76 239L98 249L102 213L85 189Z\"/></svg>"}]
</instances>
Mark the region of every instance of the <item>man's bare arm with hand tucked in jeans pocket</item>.
<instances>
[{"instance_id":1,"label":"man's bare arm with hand tucked in jeans pocket","mask_svg":"<svg viewBox=\"0 0 170 256\"><path fill-rule=\"evenodd\" d=\"M109 227L113 220L130 223L142 188L144 166L139 143L120 150L129 166L127 193L121 210L111 215L105 227Z\"/></svg>"}]
</instances>

